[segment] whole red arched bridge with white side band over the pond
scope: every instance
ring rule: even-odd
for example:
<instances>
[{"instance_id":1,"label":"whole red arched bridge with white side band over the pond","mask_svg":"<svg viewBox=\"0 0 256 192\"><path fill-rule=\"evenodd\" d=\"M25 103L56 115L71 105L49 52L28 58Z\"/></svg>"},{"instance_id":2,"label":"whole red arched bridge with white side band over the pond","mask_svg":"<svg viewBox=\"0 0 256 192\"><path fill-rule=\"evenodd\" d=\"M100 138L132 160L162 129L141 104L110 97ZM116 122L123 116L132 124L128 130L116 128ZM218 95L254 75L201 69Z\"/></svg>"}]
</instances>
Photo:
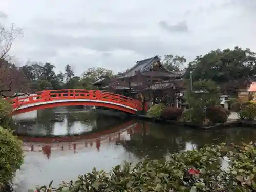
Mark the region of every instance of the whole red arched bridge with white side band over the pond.
<instances>
[{"instance_id":1,"label":"whole red arched bridge with white side band over the pond","mask_svg":"<svg viewBox=\"0 0 256 192\"><path fill-rule=\"evenodd\" d=\"M99 90L45 90L6 99L12 103L14 111L18 113L71 105L104 106L131 114L143 110L139 100Z\"/></svg>"}]
</instances>

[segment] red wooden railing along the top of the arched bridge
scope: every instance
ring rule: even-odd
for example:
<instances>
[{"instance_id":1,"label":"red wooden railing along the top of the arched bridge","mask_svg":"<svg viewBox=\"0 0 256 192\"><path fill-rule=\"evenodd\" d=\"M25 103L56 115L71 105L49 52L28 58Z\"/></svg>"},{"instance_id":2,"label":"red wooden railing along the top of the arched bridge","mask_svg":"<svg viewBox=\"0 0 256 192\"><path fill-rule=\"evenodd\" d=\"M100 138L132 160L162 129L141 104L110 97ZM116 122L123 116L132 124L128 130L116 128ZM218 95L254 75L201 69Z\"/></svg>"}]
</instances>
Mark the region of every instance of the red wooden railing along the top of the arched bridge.
<instances>
[{"instance_id":1,"label":"red wooden railing along the top of the arched bridge","mask_svg":"<svg viewBox=\"0 0 256 192\"><path fill-rule=\"evenodd\" d=\"M13 108L25 104L33 104L38 102L54 101L54 100L75 100L75 99L86 99L88 101L101 101L101 102L112 102L120 105L129 106L130 108L141 111L143 109L142 103L139 100L99 90L83 90L83 89L65 89L65 90L45 90L36 92L34 94L16 97L12 99Z\"/></svg>"}]
</instances>

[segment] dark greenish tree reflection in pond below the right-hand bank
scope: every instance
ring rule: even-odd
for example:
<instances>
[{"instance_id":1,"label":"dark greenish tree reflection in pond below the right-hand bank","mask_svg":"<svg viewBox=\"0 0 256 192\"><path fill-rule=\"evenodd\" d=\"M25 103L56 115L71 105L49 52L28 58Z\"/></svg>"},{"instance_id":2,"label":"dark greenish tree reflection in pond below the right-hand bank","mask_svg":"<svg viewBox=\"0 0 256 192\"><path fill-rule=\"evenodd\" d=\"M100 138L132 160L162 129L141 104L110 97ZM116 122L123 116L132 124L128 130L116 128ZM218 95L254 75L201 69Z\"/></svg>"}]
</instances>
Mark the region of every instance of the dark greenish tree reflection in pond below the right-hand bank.
<instances>
[{"instance_id":1,"label":"dark greenish tree reflection in pond below the right-hand bank","mask_svg":"<svg viewBox=\"0 0 256 192\"><path fill-rule=\"evenodd\" d=\"M193 130L172 125L140 122L142 132L131 135L130 141L121 144L137 157L160 158L167 152L178 152L186 145L195 144L198 148L205 144L250 142L256 140L253 129L242 127L219 130ZM144 134L148 130L147 134ZM190 143L190 144L189 144Z\"/></svg>"}]
</instances>

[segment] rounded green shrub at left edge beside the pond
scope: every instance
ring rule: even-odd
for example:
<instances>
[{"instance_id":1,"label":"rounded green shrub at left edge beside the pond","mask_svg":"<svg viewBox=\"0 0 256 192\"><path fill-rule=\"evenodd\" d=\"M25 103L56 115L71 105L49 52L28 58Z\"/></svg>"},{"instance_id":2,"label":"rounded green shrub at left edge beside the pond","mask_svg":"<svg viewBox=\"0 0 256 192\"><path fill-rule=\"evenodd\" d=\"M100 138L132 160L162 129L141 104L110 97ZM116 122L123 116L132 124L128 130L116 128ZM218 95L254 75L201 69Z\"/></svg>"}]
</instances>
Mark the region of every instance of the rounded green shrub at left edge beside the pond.
<instances>
[{"instance_id":1,"label":"rounded green shrub at left edge beside the pond","mask_svg":"<svg viewBox=\"0 0 256 192\"><path fill-rule=\"evenodd\" d=\"M0 127L0 186L12 180L23 158L22 142L11 131Z\"/></svg>"}]
</instances>

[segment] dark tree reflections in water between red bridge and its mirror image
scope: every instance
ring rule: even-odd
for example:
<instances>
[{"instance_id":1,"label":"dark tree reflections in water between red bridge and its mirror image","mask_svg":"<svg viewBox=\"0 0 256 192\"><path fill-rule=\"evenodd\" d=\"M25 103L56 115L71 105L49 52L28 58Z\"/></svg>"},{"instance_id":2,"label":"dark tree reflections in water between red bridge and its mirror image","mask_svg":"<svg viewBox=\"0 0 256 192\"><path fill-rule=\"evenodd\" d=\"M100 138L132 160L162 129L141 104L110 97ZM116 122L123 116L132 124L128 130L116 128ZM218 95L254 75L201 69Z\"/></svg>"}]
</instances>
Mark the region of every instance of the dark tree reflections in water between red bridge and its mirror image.
<instances>
[{"instance_id":1,"label":"dark tree reflections in water between red bridge and its mirror image","mask_svg":"<svg viewBox=\"0 0 256 192\"><path fill-rule=\"evenodd\" d=\"M99 130L111 129L125 123L127 119L120 119L118 117L109 117L97 114L96 112L89 112L85 110L71 110L66 111L65 108L53 108L37 111L37 119L32 121L17 121L15 129L18 135L45 135L50 136L54 134L58 123L58 130L65 129L67 135L71 135L74 129L79 129L81 132L95 133ZM75 123L79 123L78 127L74 127ZM81 125L82 124L82 125ZM83 128L84 125L84 128ZM62 127L63 126L63 127ZM72 128L73 127L73 128ZM88 129L90 127L90 129ZM81 132L80 132L81 131ZM55 131L56 132L56 131ZM57 131L58 132L58 131ZM79 134L77 133L77 134ZM56 134L56 133L55 133ZM63 134L63 132L62 132ZM72 133L73 134L73 133ZM75 133L74 133L75 134Z\"/></svg>"}]
</instances>

